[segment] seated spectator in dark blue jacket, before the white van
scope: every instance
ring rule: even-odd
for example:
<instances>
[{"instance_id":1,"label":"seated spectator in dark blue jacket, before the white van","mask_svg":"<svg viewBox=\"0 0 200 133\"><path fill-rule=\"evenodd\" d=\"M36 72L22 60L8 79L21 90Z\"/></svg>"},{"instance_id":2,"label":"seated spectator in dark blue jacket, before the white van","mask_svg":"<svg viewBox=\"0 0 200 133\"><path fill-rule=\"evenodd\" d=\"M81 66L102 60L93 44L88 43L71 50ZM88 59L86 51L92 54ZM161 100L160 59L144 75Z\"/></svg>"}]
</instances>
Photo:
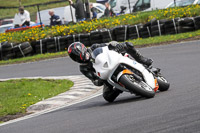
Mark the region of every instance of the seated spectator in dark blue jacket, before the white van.
<instances>
[{"instance_id":1,"label":"seated spectator in dark blue jacket, before the white van","mask_svg":"<svg viewBox=\"0 0 200 133\"><path fill-rule=\"evenodd\" d=\"M51 16L50 18L50 26L55 26L55 25L61 25L61 19L58 15L55 15L54 10L49 10L49 15Z\"/></svg>"}]
</instances>

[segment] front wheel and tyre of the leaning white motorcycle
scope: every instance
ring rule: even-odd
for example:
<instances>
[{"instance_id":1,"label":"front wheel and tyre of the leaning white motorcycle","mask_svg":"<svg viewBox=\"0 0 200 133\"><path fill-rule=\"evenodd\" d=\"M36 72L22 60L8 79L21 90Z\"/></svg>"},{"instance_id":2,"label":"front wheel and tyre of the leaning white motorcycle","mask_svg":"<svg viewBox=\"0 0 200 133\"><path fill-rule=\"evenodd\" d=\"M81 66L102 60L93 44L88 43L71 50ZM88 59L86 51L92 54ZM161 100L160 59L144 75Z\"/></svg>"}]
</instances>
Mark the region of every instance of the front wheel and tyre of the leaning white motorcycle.
<instances>
[{"instance_id":1,"label":"front wheel and tyre of the leaning white motorcycle","mask_svg":"<svg viewBox=\"0 0 200 133\"><path fill-rule=\"evenodd\" d=\"M155 96L154 90L149 85L143 81L139 82L135 80L132 75L122 75L119 82L130 92L137 95L141 95L146 98L152 98Z\"/></svg>"}]
</instances>

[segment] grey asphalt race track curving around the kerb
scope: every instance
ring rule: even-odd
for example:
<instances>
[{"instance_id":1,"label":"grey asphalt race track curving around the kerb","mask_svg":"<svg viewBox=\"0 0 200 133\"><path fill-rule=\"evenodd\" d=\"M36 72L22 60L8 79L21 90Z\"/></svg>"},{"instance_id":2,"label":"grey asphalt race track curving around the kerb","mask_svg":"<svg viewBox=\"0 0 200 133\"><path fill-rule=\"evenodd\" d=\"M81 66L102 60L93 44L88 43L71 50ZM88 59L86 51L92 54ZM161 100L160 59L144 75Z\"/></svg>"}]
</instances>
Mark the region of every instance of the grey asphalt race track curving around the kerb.
<instances>
[{"instance_id":1,"label":"grey asphalt race track curving around the kerb","mask_svg":"<svg viewBox=\"0 0 200 133\"><path fill-rule=\"evenodd\" d=\"M200 42L139 49L171 83L152 99L123 93L102 96L34 118L0 126L0 133L199 133ZM1 66L0 78L79 75L69 58Z\"/></svg>"}]
</instances>

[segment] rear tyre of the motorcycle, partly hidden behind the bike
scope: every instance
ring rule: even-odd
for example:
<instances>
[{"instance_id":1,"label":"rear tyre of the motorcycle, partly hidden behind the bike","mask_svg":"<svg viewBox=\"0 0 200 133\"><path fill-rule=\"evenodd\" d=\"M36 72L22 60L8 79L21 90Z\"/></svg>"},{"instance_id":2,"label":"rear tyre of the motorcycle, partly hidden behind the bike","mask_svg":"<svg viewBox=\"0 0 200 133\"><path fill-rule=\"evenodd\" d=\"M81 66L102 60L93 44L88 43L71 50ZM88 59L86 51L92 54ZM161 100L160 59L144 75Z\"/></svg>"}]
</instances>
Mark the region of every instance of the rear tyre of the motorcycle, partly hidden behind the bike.
<instances>
[{"instance_id":1,"label":"rear tyre of the motorcycle, partly hidden behind the bike","mask_svg":"<svg viewBox=\"0 0 200 133\"><path fill-rule=\"evenodd\" d=\"M160 91L167 91L169 89L170 83L162 76L157 77L158 85Z\"/></svg>"}]
</instances>

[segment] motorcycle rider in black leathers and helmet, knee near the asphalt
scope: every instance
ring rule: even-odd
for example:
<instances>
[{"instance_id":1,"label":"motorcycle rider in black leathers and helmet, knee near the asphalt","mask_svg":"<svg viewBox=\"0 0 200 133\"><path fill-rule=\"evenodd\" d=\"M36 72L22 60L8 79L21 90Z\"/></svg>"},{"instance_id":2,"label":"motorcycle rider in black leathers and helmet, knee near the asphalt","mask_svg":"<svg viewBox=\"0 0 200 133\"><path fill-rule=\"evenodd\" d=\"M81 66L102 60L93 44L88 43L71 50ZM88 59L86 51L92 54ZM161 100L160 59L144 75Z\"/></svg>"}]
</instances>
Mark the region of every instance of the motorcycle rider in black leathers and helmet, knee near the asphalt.
<instances>
[{"instance_id":1,"label":"motorcycle rider in black leathers and helmet, knee near the asphalt","mask_svg":"<svg viewBox=\"0 0 200 133\"><path fill-rule=\"evenodd\" d=\"M106 81L102 81L96 74L92 65L91 53L98 47L108 46L110 50L115 50L119 53L128 53L131 55L136 61L142 63L145 66L150 66L153 61L151 59L143 57L139 54L134 48L131 42L118 43L112 41L110 43L102 43L102 44L93 44L91 47L86 48L84 44L81 42L74 42L68 47L68 53L72 60L80 63L80 71L87 78L89 78L94 85L102 86L103 88L103 97L108 102L113 102L116 97L122 93L122 91L113 88Z\"/></svg>"}]
</instances>

